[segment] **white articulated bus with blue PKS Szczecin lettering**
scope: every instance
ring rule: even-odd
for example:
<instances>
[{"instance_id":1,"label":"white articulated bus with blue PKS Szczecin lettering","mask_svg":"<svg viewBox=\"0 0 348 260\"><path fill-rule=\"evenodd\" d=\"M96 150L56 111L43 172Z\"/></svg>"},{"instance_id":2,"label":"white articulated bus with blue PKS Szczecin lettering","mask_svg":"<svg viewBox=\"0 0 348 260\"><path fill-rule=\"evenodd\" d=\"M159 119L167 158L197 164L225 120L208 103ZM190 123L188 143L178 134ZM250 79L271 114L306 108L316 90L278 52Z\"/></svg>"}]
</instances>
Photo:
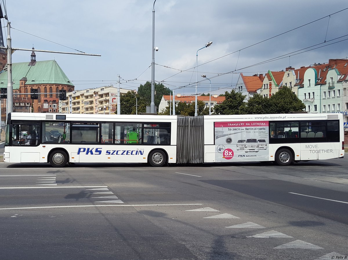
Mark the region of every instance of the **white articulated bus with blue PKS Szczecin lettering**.
<instances>
[{"instance_id":1,"label":"white articulated bus with blue PKS Szczecin lettering","mask_svg":"<svg viewBox=\"0 0 348 260\"><path fill-rule=\"evenodd\" d=\"M341 114L87 115L9 113L5 162L167 163L342 158Z\"/></svg>"}]
</instances>

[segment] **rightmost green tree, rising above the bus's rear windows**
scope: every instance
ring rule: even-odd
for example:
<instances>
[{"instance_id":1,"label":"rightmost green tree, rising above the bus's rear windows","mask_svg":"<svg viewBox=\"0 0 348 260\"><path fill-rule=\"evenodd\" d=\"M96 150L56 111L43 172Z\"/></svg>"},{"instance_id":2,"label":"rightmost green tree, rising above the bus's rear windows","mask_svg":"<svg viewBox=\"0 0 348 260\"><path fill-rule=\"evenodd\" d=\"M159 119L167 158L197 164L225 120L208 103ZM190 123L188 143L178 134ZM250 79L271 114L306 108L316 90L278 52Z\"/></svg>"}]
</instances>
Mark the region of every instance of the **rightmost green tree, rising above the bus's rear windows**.
<instances>
[{"instance_id":1,"label":"rightmost green tree, rising above the bus's rear windows","mask_svg":"<svg viewBox=\"0 0 348 260\"><path fill-rule=\"evenodd\" d=\"M286 86L279 89L269 99L269 113L283 114L292 111L302 111L303 102Z\"/></svg>"}]
</instances>

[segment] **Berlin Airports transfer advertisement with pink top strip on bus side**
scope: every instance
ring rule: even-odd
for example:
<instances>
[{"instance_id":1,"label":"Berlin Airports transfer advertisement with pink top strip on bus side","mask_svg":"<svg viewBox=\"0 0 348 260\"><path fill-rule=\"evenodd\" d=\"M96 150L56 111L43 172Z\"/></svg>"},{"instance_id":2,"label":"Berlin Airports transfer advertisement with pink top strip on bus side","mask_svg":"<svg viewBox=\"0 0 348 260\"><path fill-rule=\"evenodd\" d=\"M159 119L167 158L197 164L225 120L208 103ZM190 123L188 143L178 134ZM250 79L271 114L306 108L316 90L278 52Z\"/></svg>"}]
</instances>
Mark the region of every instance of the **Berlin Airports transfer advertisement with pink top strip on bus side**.
<instances>
[{"instance_id":1,"label":"Berlin Airports transfer advertisement with pink top strip on bus side","mask_svg":"<svg viewBox=\"0 0 348 260\"><path fill-rule=\"evenodd\" d=\"M267 161L268 121L215 122L216 161Z\"/></svg>"}]
</instances>

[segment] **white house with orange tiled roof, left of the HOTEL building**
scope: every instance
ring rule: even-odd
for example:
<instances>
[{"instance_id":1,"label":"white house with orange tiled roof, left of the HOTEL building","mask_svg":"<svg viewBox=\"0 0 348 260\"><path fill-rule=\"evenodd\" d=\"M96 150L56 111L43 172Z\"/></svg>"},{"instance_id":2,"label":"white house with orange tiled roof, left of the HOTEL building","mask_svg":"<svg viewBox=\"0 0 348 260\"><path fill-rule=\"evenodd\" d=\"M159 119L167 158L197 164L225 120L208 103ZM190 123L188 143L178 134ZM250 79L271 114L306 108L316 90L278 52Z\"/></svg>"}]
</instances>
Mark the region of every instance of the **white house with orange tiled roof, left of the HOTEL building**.
<instances>
[{"instance_id":1,"label":"white house with orange tiled roof, left of the HOTEL building","mask_svg":"<svg viewBox=\"0 0 348 260\"><path fill-rule=\"evenodd\" d=\"M244 76L243 73L239 74L239 78L236 84L236 91L245 95L244 102L248 102L254 94L259 93L263 83L263 75L255 74L253 76Z\"/></svg>"}]
</instances>

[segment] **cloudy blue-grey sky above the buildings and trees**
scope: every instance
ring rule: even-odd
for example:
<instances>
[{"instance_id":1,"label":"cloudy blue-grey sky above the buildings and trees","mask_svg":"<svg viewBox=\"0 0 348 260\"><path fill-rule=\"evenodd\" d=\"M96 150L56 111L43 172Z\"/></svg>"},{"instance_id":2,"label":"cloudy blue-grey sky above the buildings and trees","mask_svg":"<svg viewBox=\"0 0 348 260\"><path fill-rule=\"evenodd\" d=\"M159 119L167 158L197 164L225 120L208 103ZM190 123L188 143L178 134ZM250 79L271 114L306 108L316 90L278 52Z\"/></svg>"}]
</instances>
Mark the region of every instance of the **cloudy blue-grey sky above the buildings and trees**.
<instances>
[{"instance_id":1,"label":"cloudy blue-grey sky above the buildings and trees","mask_svg":"<svg viewBox=\"0 0 348 260\"><path fill-rule=\"evenodd\" d=\"M76 90L117 85L118 74L122 88L136 90L151 81L153 2L7 0L12 47L101 54L36 52L36 59L55 59ZM175 93L195 93L196 53L209 41L211 46L198 51L198 93L209 91L202 74L211 78L212 93L220 94L234 89L241 72L264 74L346 58L346 8L347 0L156 0L155 81ZM6 20L1 23L5 26ZM30 61L30 54L16 51L13 62Z\"/></svg>"}]
</instances>

